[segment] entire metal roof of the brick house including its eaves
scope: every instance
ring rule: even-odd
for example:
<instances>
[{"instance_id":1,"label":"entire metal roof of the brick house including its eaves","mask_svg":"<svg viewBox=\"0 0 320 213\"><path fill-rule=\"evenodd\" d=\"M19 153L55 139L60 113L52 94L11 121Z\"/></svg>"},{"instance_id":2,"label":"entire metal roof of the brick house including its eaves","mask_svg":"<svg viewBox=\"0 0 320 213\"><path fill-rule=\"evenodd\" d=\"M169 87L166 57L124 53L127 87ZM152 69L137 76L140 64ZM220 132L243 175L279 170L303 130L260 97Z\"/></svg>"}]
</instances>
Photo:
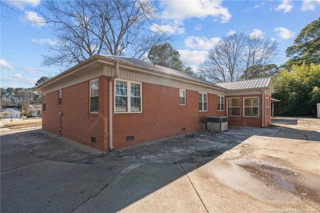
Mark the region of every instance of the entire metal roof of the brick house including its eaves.
<instances>
[{"instance_id":1,"label":"entire metal roof of the brick house including its eaves","mask_svg":"<svg viewBox=\"0 0 320 213\"><path fill-rule=\"evenodd\" d=\"M116 56L116 55L104 55L104 54L95 54L90 58L74 65L73 67L65 70L64 72L59 73L58 75L50 78L48 81L41 83L40 85L33 88L34 91L41 91L44 87L56 83L61 79L67 80L73 78L74 76L79 75L79 73L84 73L86 71L92 70L99 66L103 65L113 65L118 62L119 66L122 69L127 69L129 71L147 71L149 74L153 75L162 75L168 78L172 77L175 79L193 81L202 86L216 88L224 91L228 90L245 90L245 89L256 89L256 88L269 88L271 92L274 91L273 83L271 77L263 77L249 80L240 80L240 81L231 81L223 83L212 83L183 72L161 66L158 64L150 63L145 60L125 57L125 56ZM114 63L114 64L113 64Z\"/></svg>"}]
</instances>

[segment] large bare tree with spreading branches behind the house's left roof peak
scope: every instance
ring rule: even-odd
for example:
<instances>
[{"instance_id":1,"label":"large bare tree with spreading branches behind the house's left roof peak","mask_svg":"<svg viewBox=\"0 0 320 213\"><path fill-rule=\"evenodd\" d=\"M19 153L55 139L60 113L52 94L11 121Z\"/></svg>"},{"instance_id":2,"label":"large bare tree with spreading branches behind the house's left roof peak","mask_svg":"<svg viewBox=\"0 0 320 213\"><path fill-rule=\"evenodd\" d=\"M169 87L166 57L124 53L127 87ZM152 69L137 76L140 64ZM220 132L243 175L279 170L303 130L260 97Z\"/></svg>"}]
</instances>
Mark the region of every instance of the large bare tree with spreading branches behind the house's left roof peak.
<instances>
[{"instance_id":1,"label":"large bare tree with spreading branches behind the house's left roof peak","mask_svg":"<svg viewBox=\"0 0 320 213\"><path fill-rule=\"evenodd\" d=\"M57 42L46 45L42 65L70 67L94 55L143 57L153 45L171 39L152 31L160 15L150 0L46 0L35 9Z\"/></svg>"}]
</instances>

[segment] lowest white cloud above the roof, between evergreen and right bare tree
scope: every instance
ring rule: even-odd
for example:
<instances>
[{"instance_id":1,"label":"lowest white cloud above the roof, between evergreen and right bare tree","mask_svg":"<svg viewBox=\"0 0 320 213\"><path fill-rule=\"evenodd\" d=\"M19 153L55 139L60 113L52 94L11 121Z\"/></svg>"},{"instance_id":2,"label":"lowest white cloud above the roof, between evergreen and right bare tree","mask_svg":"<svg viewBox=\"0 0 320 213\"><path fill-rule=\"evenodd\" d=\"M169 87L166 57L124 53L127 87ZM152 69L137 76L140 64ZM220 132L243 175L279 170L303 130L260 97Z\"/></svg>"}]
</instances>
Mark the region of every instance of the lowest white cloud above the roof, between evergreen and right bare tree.
<instances>
[{"instance_id":1,"label":"lowest white cloud above the roof, between evergreen and right bare tree","mask_svg":"<svg viewBox=\"0 0 320 213\"><path fill-rule=\"evenodd\" d=\"M186 66L191 66L194 72L197 72L197 66L205 59L207 51L179 49L180 59Z\"/></svg>"}]
</instances>

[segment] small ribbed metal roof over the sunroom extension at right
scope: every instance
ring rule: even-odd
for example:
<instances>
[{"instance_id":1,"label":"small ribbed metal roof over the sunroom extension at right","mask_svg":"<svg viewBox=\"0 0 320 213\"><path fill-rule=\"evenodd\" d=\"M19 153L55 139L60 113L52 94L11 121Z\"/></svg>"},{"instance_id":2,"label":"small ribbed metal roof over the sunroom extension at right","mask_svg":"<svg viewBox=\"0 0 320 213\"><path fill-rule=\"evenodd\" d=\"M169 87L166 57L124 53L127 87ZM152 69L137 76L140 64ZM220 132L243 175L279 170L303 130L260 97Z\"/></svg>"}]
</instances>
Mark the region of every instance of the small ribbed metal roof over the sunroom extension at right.
<instances>
[{"instance_id":1,"label":"small ribbed metal roof over the sunroom extension at right","mask_svg":"<svg viewBox=\"0 0 320 213\"><path fill-rule=\"evenodd\" d=\"M270 82L272 82L271 77L261 77L261 78L247 79L247 80L216 83L216 85L222 86L230 90L239 90L239 89L268 88L270 86Z\"/></svg>"}]
</instances>

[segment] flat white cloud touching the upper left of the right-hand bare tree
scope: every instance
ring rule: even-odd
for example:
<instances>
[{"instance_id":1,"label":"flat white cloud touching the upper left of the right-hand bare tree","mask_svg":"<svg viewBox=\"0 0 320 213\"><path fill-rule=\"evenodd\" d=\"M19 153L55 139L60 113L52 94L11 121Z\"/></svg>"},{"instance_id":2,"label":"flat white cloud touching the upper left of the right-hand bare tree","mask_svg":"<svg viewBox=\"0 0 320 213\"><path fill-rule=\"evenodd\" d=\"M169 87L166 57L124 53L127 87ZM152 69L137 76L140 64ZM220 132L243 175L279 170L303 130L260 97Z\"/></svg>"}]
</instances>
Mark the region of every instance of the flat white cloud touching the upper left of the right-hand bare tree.
<instances>
[{"instance_id":1,"label":"flat white cloud touching the upper left of the right-hand bare tree","mask_svg":"<svg viewBox=\"0 0 320 213\"><path fill-rule=\"evenodd\" d=\"M206 37L199 37L199 36L192 35L184 39L184 44L188 48L209 50L216 43L218 43L220 39L221 39L220 37L211 37L210 39L208 39Z\"/></svg>"}]
</instances>

